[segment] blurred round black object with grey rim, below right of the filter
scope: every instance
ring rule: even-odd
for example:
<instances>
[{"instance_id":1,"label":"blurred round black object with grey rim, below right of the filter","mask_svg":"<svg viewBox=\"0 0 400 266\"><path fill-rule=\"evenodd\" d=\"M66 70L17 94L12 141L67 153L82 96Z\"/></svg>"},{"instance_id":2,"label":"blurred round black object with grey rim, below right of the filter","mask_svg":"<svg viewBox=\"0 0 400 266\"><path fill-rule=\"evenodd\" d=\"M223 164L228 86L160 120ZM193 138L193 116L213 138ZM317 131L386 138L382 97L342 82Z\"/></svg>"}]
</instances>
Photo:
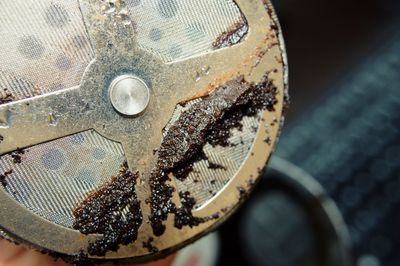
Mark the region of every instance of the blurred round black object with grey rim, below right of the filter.
<instances>
[{"instance_id":1,"label":"blurred round black object with grey rim, below right of the filter","mask_svg":"<svg viewBox=\"0 0 400 266\"><path fill-rule=\"evenodd\" d=\"M226 241L232 234L237 240ZM218 265L351 265L348 231L334 202L311 176L278 157L220 236Z\"/></svg>"}]
</instances>

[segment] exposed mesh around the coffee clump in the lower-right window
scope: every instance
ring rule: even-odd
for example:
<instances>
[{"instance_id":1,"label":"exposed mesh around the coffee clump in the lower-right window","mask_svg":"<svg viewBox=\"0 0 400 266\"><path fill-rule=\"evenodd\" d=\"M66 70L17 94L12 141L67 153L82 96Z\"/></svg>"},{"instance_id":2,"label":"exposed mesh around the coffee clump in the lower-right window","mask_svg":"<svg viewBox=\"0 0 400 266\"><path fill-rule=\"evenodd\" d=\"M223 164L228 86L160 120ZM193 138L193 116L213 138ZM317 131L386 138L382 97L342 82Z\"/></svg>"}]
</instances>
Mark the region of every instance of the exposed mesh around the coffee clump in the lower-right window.
<instances>
[{"instance_id":1,"label":"exposed mesh around the coffee clump in the lower-right window","mask_svg":"<svg viewBox=\"0 0 400 266\"><path fill-rule=\"evenodd\" d=\"M165 132L179 119L181 113L200 101L201 99L197 99L185 106L177 105L170 122L165 127ZM193 171L185 180L175 179L178 191L188 191L196 200L196 208L206 204L235 177L249 156L260 126L260 117L261 113L254 117L243 117L241 120L243 128L241 130L234 128L230 131L228 147L213 147L206 144L203 151L208 159L194 163ZM217 165L217 169L210 167L210 163Z\"/></svg>"}]
</instances>

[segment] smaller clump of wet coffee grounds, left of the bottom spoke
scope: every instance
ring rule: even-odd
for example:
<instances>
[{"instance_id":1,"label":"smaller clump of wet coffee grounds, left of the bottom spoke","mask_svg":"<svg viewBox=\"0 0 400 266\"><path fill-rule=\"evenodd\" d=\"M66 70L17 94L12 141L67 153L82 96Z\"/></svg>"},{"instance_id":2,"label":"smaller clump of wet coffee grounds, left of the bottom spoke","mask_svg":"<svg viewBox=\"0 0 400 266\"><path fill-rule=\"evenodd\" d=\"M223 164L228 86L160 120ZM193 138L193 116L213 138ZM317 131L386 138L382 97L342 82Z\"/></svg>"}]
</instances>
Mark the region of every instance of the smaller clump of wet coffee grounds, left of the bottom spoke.
<instances>
[{"instance_id":1,"label":"smaller clump of wet coffee grounds, left of the bottom spoke","mask_svg":"<svg viewBox=\"0 0 400 266\"><path fill-rule=\"evenodd\" d=\"M74 210L73 228L83 234L100 234L90 243L90 255L104 256L137 239L142 224L140 202L135 192L138 173L128 170L126 162L112 181L102 186Z\"/></svg>"}]
</instances>

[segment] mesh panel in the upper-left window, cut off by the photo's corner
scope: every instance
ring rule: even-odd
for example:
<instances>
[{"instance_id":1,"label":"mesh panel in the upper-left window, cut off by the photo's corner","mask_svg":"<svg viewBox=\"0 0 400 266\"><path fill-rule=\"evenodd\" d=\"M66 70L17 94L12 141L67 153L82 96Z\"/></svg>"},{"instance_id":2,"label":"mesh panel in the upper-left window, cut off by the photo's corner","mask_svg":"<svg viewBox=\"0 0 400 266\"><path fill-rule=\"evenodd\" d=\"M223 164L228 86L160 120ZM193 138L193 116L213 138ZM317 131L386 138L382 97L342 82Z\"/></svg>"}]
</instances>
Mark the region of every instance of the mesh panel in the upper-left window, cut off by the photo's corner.
<instances>
[{"instance_id":1,"label":"mesh panel in the upper-left window, cut off by the photo's corner","mask_svg":"<svg viewBox=\"0 0 400 266\"><path fill-rule=\"evenodd\" d=\"M79 85L94 53L77 0L0 2L0 87L15 99Z\"/></svg>"}]
</instances>

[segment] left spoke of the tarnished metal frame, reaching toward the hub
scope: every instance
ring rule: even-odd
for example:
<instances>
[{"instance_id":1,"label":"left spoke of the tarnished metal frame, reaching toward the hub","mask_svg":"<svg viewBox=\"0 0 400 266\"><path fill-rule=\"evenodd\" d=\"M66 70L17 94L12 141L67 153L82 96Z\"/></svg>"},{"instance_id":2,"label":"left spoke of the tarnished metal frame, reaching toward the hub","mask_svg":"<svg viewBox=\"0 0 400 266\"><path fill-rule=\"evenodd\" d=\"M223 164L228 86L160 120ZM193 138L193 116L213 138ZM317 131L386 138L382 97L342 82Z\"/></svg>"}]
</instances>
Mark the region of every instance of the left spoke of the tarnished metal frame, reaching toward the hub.
<instances>
[{"instance_id":1,"label":"left spoke of the tarnished metal frame, reaching toward the hub","mask_svg":"<svg viewBox=\"0 0 400 266\"><path fill-rule=\"evenodd\" d=\"M89 129L87 108L77 88L1 105L0 154Z\"/></svg>"}]
</instances>

